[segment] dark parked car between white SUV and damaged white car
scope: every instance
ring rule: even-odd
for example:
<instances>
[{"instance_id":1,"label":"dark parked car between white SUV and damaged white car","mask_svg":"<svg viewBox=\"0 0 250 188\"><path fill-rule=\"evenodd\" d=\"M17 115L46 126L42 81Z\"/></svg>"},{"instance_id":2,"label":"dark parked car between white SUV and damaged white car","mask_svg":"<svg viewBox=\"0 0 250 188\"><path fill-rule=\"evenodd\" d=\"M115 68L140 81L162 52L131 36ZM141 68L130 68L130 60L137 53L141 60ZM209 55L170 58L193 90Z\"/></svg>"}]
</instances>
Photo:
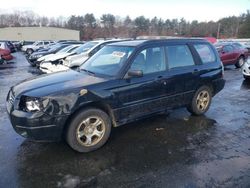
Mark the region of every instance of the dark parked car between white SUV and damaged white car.
<instances>
[{"instance_id":1,"label":"dark parked car between white SUV and damaged white car","mask_svg":"<svg viewBox=\"0 0 250 188\"><path fill-rule=\"evenodd\" d=\"M27 59L28 62L32 65L35 66L37 63L39 63L37 60L45 55L49 55L49 54L55 54L58 51L60 51L61 49L65 48L69 46L69 44L56 44L51 46L51 48L49 48L48 50L43 50L43 51L37 51L32 53Z\"/></svg>"}]
</instances>

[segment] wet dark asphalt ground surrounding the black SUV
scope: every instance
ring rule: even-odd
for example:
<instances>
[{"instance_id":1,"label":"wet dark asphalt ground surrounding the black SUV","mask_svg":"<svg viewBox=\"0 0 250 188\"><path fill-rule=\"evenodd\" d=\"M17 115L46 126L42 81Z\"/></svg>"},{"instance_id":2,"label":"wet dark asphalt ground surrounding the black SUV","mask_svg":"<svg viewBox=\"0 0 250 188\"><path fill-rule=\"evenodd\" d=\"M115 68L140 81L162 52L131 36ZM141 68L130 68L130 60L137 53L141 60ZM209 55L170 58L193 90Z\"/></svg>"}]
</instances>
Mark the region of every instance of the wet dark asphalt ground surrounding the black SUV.
<instances>
[{"instance_id":1,"label":"wet dark asphalt ground surrounding the black SUV","mask_svg":"<svg viewBox=\"0 0 250 188\"><path fill-rule=\"evenodd\" d=\"M249 187L250 83L233 66L206 116L185 109L116 128L101 149L79 154L64 142L17 135L9 87L36 76L25 58L0 67L0 187Z\"/></svg>"}]
</instances>

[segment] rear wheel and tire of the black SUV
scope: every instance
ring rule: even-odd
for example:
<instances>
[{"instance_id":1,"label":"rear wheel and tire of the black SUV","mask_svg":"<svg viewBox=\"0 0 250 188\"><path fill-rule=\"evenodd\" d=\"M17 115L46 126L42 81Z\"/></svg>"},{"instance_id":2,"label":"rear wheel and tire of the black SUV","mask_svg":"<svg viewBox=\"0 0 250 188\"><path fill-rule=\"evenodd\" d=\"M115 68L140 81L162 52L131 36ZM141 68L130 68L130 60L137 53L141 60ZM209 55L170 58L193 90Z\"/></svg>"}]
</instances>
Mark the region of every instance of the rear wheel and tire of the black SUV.
<instances>
[{"instance_id":1,"label":"rear wheel and tire of the black SUV","mask_svg":"<svg viewBox=\"0 0 250 188\"><path fill-rule=\"evenodd\" d=\"M196 116L203 115L208 111L211 104L211 100L212 100L211 88L208 86L202 86L195 92L192 102L187 107L187 110L191 114Z\"/></svg>"}]
</instances>

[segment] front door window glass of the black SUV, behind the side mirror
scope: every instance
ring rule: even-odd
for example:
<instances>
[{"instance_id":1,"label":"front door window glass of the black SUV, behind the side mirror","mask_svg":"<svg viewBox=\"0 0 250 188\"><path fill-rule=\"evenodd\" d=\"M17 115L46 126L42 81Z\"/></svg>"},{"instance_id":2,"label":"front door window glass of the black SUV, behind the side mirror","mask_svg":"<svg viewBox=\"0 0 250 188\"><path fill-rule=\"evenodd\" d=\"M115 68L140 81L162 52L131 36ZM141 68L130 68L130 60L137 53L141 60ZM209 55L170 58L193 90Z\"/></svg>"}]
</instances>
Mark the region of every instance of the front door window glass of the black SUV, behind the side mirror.
<instances>
[{"instance_id":1,"label":"front door window glass of the black SUV, behind the side mirror","mask_svg":"<svg viewBox=\"0 0 250 188\"><path fill-rule=\"evenodd\" d=\"M166 70L164 48L148 48L141 51L130 67L131 70L142 70L143 74Z\"/></svg>"}]
</instances>

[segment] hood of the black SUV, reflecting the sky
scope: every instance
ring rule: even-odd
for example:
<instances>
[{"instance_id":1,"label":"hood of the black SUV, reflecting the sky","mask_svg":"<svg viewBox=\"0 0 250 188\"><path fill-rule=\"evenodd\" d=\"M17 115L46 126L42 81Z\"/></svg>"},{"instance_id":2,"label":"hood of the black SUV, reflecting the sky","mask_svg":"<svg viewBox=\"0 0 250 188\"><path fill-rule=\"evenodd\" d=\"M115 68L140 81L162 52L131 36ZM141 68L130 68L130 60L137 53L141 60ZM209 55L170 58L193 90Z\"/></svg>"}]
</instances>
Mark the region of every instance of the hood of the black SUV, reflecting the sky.
<instances>
[{"instance_id":1,"label":"hood of the black SUV, reflecting the sky","mask_svg":"<svg viewBox=\"0 0 250 188\"><path fill-rule=\"evenodd\" d=\"M16 97L20 97L20 95L42 97L62 93L67 89L85 88L88 85L104 81L106 79L90 76L84 72L67 70L24 80L14 86L12 91Z\"/></svg>"}]
</instances>

